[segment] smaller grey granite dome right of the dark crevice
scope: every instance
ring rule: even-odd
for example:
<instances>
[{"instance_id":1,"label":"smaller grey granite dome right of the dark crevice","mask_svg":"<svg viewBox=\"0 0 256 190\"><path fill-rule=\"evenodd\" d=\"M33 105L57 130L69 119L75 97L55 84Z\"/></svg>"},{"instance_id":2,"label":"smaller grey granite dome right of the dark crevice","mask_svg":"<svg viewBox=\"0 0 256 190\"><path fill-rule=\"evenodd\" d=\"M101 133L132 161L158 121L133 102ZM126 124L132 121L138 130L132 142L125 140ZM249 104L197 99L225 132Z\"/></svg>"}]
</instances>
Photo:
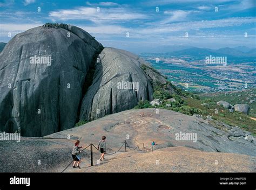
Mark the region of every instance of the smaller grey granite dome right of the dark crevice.
<instances>
[{"instance_id":1,"label":"smaller grey granite dome right of the dark crevice","mask_svg":"<svg viewBox=\"0 0 256 190\"><path fill-rule=\"evenodd\" d=\"M142 66L151 69L137 55L105 47L96 61L93 83L83 98L80 120L90 121L132 109L141 100L152 100L152 83L165 79L153 70L147 75Z\"/></svg>"}]
</instances>

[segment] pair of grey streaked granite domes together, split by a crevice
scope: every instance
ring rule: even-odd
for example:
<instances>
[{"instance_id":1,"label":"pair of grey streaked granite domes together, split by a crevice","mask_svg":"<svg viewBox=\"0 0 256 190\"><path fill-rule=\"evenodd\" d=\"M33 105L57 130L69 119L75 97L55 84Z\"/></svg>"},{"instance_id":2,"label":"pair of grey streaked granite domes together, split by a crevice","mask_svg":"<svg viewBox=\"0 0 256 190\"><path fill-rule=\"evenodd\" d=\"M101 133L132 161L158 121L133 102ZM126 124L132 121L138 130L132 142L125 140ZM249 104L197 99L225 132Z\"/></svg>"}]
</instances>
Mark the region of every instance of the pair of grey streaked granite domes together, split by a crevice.
<instances>
[{"instance_id":1,"label":"pair of grey streaked granite domes together, split by a crevice","mask_svg":"<svg viewBox=\"0 0 256 190\"><path fill-rule=\"evenodd\" d=\"M70 129L152 100L157 81L166 82L137 55L104 48L76 26L47 23L17 34L0 54L0 131L31 137Z\"/></svg>"}]
</instances>

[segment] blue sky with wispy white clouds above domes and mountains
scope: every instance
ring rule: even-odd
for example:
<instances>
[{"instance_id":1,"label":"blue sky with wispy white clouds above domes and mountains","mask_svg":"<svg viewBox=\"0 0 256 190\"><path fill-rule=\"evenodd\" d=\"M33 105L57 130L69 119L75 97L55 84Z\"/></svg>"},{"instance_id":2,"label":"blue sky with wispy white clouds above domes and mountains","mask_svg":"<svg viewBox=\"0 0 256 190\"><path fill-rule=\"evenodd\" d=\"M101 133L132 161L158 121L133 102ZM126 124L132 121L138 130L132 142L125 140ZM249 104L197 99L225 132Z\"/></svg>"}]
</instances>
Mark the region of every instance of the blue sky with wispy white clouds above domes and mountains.
<instances>
[{"instance_id":1,"label":"blue sky with wispy white clouds above domes and mountains","mask_svg":"<svg viewBox=\"0 0 256 190\"><path fill-rule=\"evenodd\" d=\"M163 45L255 48L255 2L0 0L0 41L58 22L82 27L104 46L132 52Z\"/></svg>"}]
</instances>

